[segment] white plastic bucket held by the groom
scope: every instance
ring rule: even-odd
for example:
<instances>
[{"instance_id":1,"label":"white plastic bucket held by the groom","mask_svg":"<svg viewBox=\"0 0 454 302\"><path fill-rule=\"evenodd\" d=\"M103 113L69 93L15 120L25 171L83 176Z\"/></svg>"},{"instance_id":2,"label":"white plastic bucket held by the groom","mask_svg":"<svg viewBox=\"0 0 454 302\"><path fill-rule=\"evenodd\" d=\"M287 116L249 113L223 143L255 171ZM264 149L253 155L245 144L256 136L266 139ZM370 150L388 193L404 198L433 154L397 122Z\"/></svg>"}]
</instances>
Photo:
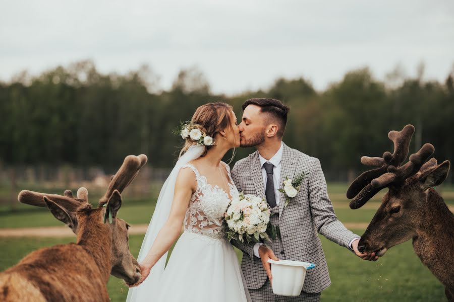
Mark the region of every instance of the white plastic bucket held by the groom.
<instances>
[{"instance_id":1,"label":"white plastic bucket held by the groom","mask_svg":"<svg viewBox=\"0 0 454 302\"><path fill-rule=\"evenodd\" d=\"M298 296L303 289L306 271L315 264L291 260L268 260L271 263L273 293L283 296Z\"/></svg>"}]
</instances>

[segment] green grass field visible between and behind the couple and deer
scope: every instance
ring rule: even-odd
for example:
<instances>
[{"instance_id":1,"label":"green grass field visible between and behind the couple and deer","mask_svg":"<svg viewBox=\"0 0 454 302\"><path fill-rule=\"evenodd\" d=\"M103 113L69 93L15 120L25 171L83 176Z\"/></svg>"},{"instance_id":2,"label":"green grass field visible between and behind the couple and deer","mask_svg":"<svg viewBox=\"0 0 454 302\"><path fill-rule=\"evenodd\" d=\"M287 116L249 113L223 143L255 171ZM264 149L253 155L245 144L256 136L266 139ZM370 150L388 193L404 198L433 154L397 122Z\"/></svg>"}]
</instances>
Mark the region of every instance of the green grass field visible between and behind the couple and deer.
<instances>
[{"instance_id":1,"label":"green grass field visible between and behind the couple and deer","mask_svg":"<svg viewBox=\"0 0 454 302\"><path fill-rule=\"evenodd\" d=\"M335 212L343 222L369 222L375 208L351 210L345 197L346 184L329 184L328 190ZM454 204L451 187L448 204ZM92 199L93 200L93 199ZM371 202L379 202L379 198ZM377 203L378 204L378 203ZM25 207L27 208L27 207ZM23 207L21 207L23 209ZM148 223L154 203L124 201L119 216L133 224ZM9 212L0 210L0 228L62 225L46 209ZM361 235L364 230L352 230ZM137 256L143 235L130 238L131 251ZM0 238L0 270L16 264L22 257L40 247L74 241L70 238ZM321 236L332 285L322 292L322 301L443 301L443 286L414 254L411 242L393 247L377 262L361 260L345 248ZM239 259L241 252L237 250ZM112 301L124 301L128 287L110 277L108 290Z\"/></svg>"}]
</instances>

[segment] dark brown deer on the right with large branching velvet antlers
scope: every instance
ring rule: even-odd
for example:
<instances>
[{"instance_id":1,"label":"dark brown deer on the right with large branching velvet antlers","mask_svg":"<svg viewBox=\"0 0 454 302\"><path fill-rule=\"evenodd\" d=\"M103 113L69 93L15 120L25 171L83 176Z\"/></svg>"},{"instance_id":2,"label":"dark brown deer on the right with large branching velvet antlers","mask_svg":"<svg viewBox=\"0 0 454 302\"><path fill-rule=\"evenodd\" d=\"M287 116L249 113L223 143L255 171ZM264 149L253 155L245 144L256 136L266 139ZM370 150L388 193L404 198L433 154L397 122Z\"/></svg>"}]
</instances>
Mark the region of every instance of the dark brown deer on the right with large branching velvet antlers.
<instances>
[{"instance_id":1,"label":"dark brown deer on the right with large branching velvet antlers","mask_svg":"<svg viewBox=\"0 0 454 302\"><path fill-rule=\"evenodd\" d=\"M449 301L454 300L454 214L435 191L449 172L449 162L437 165L427 161L434 147L426 143L410 156L405 165L410 140L415 128L407 125L402 131L390 131L394 153L383 157L362 157L361 163L377 167L361 174L347 191L352 209L363 206L378 191L387 187L382 203L361 237L358 249L363 253L386 251L409 239L421 262L445 286ZM427 161L427 162L426 162Z\"/></svg>"}]
</instances>

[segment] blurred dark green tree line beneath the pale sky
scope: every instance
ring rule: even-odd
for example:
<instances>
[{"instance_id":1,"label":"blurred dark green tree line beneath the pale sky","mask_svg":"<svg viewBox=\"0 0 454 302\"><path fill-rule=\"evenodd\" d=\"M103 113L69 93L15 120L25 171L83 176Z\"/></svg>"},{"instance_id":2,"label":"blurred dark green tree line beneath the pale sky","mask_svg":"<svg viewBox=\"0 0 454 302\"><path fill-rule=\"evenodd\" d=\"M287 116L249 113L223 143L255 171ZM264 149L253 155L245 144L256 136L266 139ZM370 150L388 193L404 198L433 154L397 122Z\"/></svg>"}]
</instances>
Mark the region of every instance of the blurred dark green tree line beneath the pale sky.
<instances>
[{"instance_id":1,"label":"blurred dark green tree line beneath the pale sky","mask_svg":"<svg viewBox=\"0 0 454 302\"><path fill-rule=\"evenodd\" d=\"M92 61L80 61L0 83L0 162L110 169L126 155L144 153L152 167L171 167L182 144L172 131L195 108L226 102L240 120L241 104L252 97L290 105L283 140L319 158L324 170L364 169L361 156L392 152L387 133L406 124L416 127L412 153L430 142L439 162L454 159L452 72L440 83L424 81L423 66L413 78L396 68L380 81L365 67L324 91L304 78L277 79L266 90L233 96L211 93L196 68L181 70L169 90L159 90L156 79L147 66L101 73ZM237 150L233 163L253 150Z\"/></svg>"}]
</instances>

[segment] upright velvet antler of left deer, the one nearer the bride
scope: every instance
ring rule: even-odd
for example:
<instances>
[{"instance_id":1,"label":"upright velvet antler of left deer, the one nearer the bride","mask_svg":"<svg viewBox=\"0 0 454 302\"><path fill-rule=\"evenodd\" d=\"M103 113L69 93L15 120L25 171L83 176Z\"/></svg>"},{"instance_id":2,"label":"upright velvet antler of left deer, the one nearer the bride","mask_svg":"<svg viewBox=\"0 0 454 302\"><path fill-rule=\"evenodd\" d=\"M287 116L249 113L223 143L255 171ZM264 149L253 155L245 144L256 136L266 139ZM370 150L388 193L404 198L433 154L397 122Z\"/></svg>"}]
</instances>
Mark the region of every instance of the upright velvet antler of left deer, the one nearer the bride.
<instances>
[{"instance_id":1,"label":"upright velvet antler of left deer, the one nearer the bride","mask_svg":"<svg viewBox=\"0 0 454 302\"><path fill-rule=\"evenodd\" d=\"M127 156L123 162L123 165L117 171L115 176L113 176L110 180L109 187L104 196L99 199L99 205L104 205L109 200L114 190L118 190L120 193L122 193L146 163L147 156L144 154L141 154L139 156Z\"/></svg>"}]
</instances>

